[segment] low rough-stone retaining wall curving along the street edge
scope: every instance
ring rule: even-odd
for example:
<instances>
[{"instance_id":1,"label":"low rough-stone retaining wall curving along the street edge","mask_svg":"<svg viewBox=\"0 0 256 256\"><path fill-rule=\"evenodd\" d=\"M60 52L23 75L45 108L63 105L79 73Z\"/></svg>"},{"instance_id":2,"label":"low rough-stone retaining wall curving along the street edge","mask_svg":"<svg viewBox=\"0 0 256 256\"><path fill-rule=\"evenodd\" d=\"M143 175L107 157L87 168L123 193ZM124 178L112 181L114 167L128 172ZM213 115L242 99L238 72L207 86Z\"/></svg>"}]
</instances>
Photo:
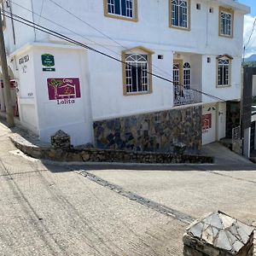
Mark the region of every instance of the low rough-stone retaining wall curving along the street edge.
<instances>
[{"instance_id":1,"label":"low rough-stone retaining wall curving along the street edge","mask_svg":"<svg viewBox=\"0 0 256 256\"><path fill-rule=\"evenodd\" d=\"M170 164L170 163L212 163L211 156L189 155L189 154L160 154L148 152L127 152L121 150L101 150L96 148L67 150L38 147L28 143L19 136L10 137L16 148L22 152L38 159L58 160L58 161L88 161L88 162L131 162L150 164Z\"/></svg>"}]
</instances>

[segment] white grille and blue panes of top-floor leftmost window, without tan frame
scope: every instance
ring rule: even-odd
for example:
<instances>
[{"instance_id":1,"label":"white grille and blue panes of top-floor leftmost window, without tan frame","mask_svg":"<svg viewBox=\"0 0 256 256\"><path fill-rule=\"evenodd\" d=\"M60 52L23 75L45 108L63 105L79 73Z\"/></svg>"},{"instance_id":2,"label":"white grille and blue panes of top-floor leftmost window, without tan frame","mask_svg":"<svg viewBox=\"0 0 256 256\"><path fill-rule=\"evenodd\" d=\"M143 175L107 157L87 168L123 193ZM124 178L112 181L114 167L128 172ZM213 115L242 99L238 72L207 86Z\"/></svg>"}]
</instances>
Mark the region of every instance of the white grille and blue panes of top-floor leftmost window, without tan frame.
<instances>
[{"instance_id":1,"label":"white grille and blue panes of top-floor leftmost window, without tan frame","mask_svg":"<svg viewBox=\"0 0 256 256\"><path fill-rule=\"evenodd\" d=\"M134 0L108 0L108 14L133 18Z\"/></svg>"}]
</instances>

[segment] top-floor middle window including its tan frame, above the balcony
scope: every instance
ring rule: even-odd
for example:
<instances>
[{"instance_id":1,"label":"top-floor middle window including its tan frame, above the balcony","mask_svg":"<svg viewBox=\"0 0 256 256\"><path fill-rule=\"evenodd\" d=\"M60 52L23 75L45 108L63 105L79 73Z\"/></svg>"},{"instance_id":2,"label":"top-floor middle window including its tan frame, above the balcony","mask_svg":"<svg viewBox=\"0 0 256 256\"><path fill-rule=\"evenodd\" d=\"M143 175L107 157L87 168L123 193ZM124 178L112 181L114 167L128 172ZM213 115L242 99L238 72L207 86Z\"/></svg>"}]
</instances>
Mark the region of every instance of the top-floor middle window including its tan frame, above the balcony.
<instances>
[{"instance_id":1,"label":"top-floor middle window including its tan frame, above the balcony","mask_svg":"<svg viewBox=\"0 0 256 256\"><path fill-rule=\"evenodd\" d=\"M189 29L190 0L170 0L170 26Z\"/></svg>"}]
</instances>

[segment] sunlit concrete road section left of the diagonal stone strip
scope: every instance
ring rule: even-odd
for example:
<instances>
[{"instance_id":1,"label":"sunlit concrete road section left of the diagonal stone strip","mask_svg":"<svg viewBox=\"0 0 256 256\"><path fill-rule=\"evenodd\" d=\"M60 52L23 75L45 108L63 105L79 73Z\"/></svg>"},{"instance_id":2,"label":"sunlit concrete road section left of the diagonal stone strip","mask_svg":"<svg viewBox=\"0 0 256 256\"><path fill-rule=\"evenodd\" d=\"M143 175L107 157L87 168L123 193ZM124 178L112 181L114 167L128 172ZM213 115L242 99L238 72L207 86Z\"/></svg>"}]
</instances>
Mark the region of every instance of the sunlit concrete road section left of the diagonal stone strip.
<instances>
[{"instance_id":1,"label":"sunlit concrete road section left of the diagonal stone strip","mask_svg":"<svg viewBox=\"0 0 256 256\"><path fill-rule=\"evenodd\" d=\"M0 125L0 255L182 255L187 224L21 157L7 135Z\"/></svg>"}]
</instances>

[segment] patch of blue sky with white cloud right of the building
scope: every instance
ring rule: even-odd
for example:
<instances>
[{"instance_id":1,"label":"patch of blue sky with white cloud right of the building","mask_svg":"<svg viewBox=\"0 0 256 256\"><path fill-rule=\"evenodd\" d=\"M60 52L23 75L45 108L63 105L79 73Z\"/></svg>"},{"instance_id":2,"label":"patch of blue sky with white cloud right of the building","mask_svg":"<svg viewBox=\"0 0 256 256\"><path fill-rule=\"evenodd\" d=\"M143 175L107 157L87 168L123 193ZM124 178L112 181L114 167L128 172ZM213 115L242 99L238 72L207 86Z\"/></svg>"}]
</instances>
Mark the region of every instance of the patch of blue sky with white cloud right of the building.
<instances>
[{"instance_id":1,"label":"patch of blue sky with white cloud right of the building","mask_svg":"<svg viewBox=\"0 0 256 256\"><path fill-rule=\"evenodd\" d=\"M247 4L251 7L251 14L245 16L244 24L244 44L247 44L248 38L252 32L253 21L256 18L256 0L239 0L240 3ZM256 26L253 31L253 36L246 49L246 57L256 54Z\"/></svg>"}]
</instances>

